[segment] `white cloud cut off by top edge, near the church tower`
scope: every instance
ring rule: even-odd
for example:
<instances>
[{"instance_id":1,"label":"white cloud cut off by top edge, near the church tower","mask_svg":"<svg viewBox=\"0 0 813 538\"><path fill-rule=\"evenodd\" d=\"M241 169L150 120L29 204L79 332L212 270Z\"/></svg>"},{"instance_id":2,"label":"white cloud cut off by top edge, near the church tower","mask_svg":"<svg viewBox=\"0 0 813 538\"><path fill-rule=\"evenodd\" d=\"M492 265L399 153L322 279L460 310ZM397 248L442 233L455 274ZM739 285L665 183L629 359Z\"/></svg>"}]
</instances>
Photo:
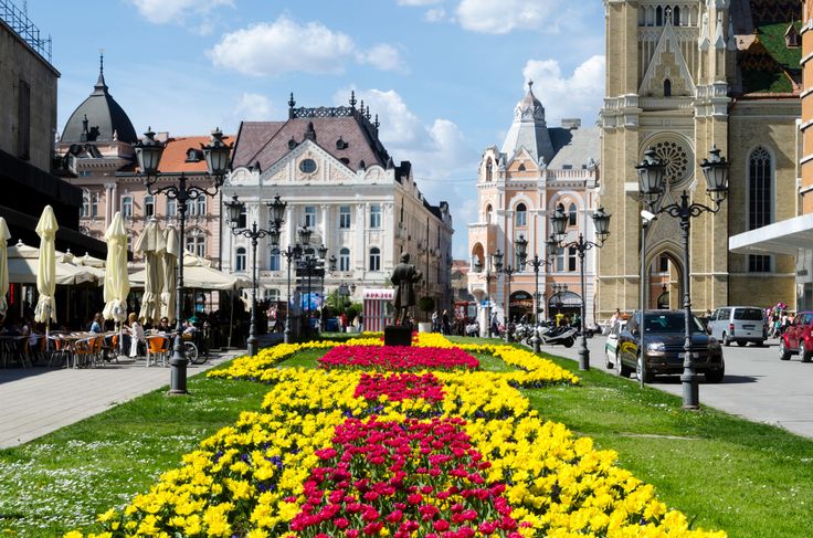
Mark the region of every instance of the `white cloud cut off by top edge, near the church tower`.
<instances>
[{"instance_id":1,"label":"white cloud cut off by top edge, near the church tower","mask_svg":"<svg viewBox=\"0 0 813 538\"><path fill-rule=\"evenodd\" d=\"M462 0L457 6L461 25L474 32L508 33L513 30L541 30L569 2L561 0Z\"/></svg>"}]
</instances>

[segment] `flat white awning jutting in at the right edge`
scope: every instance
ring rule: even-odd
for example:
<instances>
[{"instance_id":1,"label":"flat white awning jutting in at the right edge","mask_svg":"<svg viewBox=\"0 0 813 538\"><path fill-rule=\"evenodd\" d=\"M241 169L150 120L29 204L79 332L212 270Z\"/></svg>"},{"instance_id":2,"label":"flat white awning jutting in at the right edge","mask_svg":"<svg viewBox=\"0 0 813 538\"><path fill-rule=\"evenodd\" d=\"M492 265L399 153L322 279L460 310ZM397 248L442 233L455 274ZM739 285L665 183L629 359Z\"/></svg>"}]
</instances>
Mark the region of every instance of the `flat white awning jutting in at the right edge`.
<instances>
[{"instance_id":1,"label":"flat white awning jutting in at the right edge","mask_svg":"<svg viewBox=\"0 0 813 538\"><path fill-rule=\"evenodd\" d=\"M728 250L735 254L795 256L799 249L813 249L813 214L775 222L728 239Z\"/></svg>"}]
</instances>

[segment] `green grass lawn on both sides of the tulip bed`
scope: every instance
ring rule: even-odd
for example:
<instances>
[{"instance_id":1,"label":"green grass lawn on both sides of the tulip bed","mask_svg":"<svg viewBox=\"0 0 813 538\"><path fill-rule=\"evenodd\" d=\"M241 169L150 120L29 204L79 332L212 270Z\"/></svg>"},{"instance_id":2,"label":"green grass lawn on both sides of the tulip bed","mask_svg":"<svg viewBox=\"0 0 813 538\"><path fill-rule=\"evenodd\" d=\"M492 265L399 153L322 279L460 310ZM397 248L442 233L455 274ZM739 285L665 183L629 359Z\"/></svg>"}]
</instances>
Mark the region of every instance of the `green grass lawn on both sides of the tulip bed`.
<instances>
[{"instance_id":1,"label":"green grass lawn on both sides of the tulip bed","mask_svg":"<svg viewBox=\"0 0 813 538\"><path fill-rule=\"evenodd\" d=\"M313 368L324 352L307 350L283 365ZM510 369L479 358L485 369ZM810 534L812 440L707 408L683 411L677 397L552 360L583 386L524 391L540 414L615 450L619 465L655 485L669 507L696 517L696 526L731 537ZM196 377L189 390L189 398L156 391L0 451L0 536L59 536L125 505L240 411L258 409L267 388Z\"/></svg>"}]
</instances>

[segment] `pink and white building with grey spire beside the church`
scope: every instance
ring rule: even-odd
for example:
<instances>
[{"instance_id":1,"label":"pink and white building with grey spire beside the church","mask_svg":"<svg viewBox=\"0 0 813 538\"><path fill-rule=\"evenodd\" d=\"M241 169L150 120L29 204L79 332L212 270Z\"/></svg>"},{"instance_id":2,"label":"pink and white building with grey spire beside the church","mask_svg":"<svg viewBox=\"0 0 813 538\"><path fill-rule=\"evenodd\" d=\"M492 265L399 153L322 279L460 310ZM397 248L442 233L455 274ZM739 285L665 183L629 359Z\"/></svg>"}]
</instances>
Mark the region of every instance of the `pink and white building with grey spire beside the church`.
<instances>
[{"instance_id":1,"label":"pink and white building with grey spire beside the church","mask_svg":"<svg viewBox=\"0 0 813 538\"><path fill-rule=\"evenodd\" d=\"M593 316L595 294L594 250L584 260L585 289L581 289L576 249L559 249L549 265L530 264L510 278L496 274L493 254L504 254L504 265L517 267L516 241L528 241L527 256L546 260L546 241L552 233L550 217L558 205L568 214L567 242L583 233L593 240L590 219L596 208L599 188L599 129L582 127L578 119L548 127L545 108L534 95L532 82L514 109L514 120L501 148L483 154L477 177L479 221L468 225L472 268L468 289L481 305L479 321L485 333L487 318L496 312L499 320L518 320L534 314L534 294L540 294L539 315L574 315L585 302L587 323ZM509 282L510 279L510 282ZM566 287L567 286L567 287ZM507 312L508 309L508 312Z\"/></svg>"}]
</instances>

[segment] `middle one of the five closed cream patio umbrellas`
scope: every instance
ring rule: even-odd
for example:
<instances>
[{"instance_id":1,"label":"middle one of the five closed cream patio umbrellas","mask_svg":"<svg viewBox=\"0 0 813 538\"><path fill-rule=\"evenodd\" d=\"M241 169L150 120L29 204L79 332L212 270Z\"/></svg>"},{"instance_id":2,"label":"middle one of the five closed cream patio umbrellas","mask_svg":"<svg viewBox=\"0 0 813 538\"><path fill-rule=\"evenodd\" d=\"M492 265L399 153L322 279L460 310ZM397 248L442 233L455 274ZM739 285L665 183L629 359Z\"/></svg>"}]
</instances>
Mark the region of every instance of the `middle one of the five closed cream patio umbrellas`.
<instances>
[{"instance_id":1,"label":"middle one of the five closed cream patio umbrellas","mask_svg":"<svg viewBox=\"0 0 813 538\"><path fill-rule=\"evenodd\" d=\"M127 315L127 294L130 293L130 281L127 275L127 232L124 229L122 212L116 211L110 225L105 232L107 242L107 270L105 271L105 319L114 319L119 324Z\"/></svg>"}]
</instances>

